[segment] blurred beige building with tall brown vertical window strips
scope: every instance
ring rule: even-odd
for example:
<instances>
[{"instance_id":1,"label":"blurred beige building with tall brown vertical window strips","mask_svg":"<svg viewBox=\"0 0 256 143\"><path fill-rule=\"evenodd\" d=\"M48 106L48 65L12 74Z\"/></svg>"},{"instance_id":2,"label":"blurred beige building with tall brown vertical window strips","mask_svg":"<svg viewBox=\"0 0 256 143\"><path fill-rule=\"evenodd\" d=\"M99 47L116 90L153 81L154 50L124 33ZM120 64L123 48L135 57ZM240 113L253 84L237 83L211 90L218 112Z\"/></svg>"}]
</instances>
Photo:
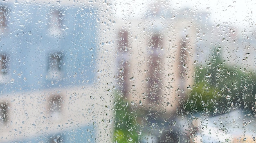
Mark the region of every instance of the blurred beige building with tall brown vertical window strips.
<instances>
[{"instance_id":1,"label":"blurred beige building with tall brown vertical window strips","mask_svg":"<svg viewBox=\"0 0 256 143\"><path fill-rule=\"evenodd\" d=\"M117 87L131 111L137 112L142 134L156 141L159 130L170 135L169 124L182 113L180 105L193 88L198 28L190 9L177 14L168 11L168 5L161 6L166 4L155 4L155 9L126 20L115 19L116 34L109 38L117 41L113 65Z\"/></svg>"}]
</instances>

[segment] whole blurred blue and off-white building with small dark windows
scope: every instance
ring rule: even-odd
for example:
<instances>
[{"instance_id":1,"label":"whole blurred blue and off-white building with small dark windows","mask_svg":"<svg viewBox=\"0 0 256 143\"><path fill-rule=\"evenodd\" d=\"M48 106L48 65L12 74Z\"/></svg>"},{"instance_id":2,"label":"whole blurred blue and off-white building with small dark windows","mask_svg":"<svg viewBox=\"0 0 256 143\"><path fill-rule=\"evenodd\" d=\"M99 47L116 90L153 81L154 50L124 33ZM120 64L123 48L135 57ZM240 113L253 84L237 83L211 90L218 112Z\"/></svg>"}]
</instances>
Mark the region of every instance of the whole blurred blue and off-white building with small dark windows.
<instances>
[{"instance_id":1,"label":"whole blurred blue and off-white building with small dark windows","mask_svg":"<svg viewBox=\"0 0 256 143\"><path fill-rule=\"evenodd\" d=\"M81 3L0 4L1 143L110 139L108 97L93 85L98 16Z\"/></svg>"}]
</instances>

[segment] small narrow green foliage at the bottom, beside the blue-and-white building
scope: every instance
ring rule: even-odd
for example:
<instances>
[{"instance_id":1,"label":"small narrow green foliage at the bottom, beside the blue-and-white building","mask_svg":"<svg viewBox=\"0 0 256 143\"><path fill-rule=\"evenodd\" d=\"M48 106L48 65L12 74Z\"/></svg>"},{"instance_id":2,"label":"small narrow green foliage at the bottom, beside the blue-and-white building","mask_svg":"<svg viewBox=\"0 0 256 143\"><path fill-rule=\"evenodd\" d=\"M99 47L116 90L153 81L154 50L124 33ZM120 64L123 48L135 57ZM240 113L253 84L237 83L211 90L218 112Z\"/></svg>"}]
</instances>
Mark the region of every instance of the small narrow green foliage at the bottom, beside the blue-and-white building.
<instances>
[{"instance_id":1,"label":"small narrow green foliage at the bottom, beside the blue-and-white building","mask_svg":"<svg viewBox=\"0 0 256 143\"><path fill-rule=\"evenodd\" d=\"M122 93L115 95L115 143L135 143L139 139L136 124L136 112L131 111L130 104Z\"/></svg>"}]
</instances>

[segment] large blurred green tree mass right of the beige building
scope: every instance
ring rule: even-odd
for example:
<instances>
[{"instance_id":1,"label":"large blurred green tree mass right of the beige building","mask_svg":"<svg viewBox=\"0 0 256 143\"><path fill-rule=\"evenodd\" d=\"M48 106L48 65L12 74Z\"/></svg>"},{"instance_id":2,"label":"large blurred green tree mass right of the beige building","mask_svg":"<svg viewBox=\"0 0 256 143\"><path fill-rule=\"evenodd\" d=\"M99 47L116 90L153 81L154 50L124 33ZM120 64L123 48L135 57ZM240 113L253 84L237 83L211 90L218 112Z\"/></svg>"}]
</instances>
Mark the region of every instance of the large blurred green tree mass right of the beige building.
<instances>
[{"instance_id":1,"label":"large blurred green tree mass right of the beige building","mask_svg":"<svg viewBox=\"0 0 256 143\"><path fill-rule=\"evenodd\" d=\"M255 114L255 71L229 65L215 48L206 65L195 69L195 84L184 104L187 113L210 115L241 109Z\"/></svg>"}]
</instances>

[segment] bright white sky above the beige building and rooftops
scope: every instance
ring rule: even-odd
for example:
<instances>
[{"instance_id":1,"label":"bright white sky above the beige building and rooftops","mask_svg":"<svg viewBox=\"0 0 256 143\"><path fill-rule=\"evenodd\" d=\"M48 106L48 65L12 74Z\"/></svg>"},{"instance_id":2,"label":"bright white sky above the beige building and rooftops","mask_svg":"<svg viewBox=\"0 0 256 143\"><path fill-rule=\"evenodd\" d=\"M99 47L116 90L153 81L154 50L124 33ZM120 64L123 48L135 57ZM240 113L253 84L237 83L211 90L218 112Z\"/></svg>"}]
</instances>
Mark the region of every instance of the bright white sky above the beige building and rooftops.
<instances>
[{"instance_id":1,"label":"bright white sky above the beige building and rooftops","mask_svg":"<svg viewBox=\"0 0 256 143\"><path fill-rule=\"evenodd\" d=\"M163 6L161 0L113 0L119 17L130 15L139 17L157 3L170 10L192 8L198 11L207 11L211 14L210 20L214 23L227 22L239 28L254 25L256 20L256 0L166 0ZM165 1L165 0L162 0ZM138 16L139 15L139 16ZM253 23L252 23L253 22Z\"/></svg>"}]
</instances>

